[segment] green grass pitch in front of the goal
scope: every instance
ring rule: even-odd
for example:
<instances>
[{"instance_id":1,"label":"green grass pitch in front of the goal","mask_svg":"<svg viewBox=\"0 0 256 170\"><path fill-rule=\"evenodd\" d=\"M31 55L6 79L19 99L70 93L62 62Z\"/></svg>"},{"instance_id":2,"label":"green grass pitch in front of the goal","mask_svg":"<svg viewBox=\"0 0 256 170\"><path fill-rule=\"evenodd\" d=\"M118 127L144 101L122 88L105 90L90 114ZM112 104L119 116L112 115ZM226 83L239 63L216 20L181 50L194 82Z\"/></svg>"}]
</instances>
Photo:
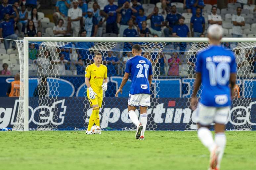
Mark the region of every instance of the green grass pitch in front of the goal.
<instances>
[{"instance_id":1,"label":"green grass pitch in front of the goal","mask_svg":"<svg viewBox=\"0 0 256 170\"><path fill-rule=\"evenodd\" d=\"M228 131L223 170L256 169L256 131ZM0 169L207 170L208 150L196 131L0 132Z\"/></svg>"}]
</instances>

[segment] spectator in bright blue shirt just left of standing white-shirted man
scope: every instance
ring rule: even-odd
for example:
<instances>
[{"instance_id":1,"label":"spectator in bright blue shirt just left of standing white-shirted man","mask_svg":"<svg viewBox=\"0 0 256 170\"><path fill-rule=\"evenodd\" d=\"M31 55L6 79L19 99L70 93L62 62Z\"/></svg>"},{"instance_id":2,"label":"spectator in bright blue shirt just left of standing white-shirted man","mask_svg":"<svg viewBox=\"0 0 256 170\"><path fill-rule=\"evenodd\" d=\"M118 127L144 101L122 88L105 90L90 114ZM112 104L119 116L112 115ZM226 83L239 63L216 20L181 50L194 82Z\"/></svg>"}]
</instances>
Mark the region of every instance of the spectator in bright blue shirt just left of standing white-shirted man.
<instances>
[{"instance_id":1,"label":"spectator in bright blue shirt just left of standing white-shirted man","mask_svg":"<svg viewBox=\"0 0 256 170\"><path fill-rule=\"evenodd\" d=\"M58 25L59 19L67 20L67 11L70 8L69 0L59 0L56 3L56 13L53 14L55 25Z\"/></svg>"}]
</instances>

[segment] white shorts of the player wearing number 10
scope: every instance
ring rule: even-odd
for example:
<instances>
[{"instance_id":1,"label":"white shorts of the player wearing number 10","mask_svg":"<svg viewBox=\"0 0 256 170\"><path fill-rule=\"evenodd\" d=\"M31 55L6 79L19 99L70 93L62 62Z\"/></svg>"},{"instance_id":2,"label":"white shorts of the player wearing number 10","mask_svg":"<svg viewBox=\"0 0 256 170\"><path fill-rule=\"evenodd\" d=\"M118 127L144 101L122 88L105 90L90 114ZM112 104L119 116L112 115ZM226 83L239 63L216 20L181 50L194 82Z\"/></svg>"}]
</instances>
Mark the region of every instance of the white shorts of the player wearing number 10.
<instances>
[{"instance_id":1,"label":"white shorts of the player wearing number 10","mask_svg":"<svg viewBox=\"0 0 256 170\"><path fill-rule=\"evenodd\" d=\"M211 123L225 124L229 117L230 107L210 107L203 104L199 104L197 116L198 123L204 126L208 126Z\"/></svg>"}]
</instances>

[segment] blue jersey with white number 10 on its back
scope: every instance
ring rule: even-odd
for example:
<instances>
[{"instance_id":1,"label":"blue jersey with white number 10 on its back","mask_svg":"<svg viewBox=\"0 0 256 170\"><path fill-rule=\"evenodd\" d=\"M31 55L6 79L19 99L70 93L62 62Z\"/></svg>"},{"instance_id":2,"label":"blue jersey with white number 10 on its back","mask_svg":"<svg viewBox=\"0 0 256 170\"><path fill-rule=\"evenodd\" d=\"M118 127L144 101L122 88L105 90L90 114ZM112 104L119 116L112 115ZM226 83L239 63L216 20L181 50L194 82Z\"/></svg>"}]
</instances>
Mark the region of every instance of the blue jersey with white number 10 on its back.
<instances>
[{"instance_id":1,"label":"blue jersey with white number 10 on its back","mask_svg":"<svg viewBox=\"0 0 256 170\"><path fill-rule=\"evenodd\" d=\"M196 72L202 76L201 103L205 106L231 105L230 74L236 72L235 56L221 46L210 46L198 53Z\"/></svg>"}]
</instances>

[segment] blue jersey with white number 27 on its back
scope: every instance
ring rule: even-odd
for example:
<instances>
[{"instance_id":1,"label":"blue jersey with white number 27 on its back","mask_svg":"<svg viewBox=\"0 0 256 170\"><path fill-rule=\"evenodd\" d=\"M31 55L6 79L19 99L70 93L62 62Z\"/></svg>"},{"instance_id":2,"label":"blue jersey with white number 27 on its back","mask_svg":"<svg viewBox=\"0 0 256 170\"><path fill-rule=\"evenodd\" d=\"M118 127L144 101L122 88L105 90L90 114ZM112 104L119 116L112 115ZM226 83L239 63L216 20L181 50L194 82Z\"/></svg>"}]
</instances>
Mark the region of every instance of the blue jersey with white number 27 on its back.
<instances>
[{"instance_id":1,"label":"blue jersey with white number 27 on its back","mask_svg":"<svg viewBox=\"0 0 256 170\"><path fill-rule=\"evenodd\" d=\"M125 72L132 77L130 94L150 94L149 79L152 75L151 62L142 56L135 56L126 62Z\"/></svg>"}]
</instances>

